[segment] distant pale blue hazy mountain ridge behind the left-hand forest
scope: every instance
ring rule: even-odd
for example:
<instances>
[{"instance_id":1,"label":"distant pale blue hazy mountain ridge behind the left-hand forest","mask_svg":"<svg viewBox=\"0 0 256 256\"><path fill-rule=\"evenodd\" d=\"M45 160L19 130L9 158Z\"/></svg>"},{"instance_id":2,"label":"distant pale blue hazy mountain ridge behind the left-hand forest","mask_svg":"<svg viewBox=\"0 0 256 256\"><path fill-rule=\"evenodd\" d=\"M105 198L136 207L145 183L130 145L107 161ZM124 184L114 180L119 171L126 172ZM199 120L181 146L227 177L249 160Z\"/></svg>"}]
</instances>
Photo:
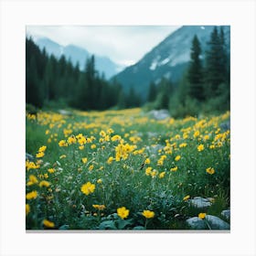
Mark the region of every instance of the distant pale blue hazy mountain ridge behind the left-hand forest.
<instances>
[{"instance_id":1,"label":"distant pale blue hazy mountain ridge behind the left-hand forest","mask_svg":"<svg viewBox=\"0 0 256 256\"><path fill-rule=\"evenodd\" d=\"M74 66L77 65L77 62L79 62L81 70L83 70L85 67L86 59L90 58L92 55L84 48L80 48L74 45L63 47L47 37L39 37L35 42L41 50L46 48L46 51L49 55L52 54L58 59L63 55L66 59L70 59ZM95 69L98 70L100 74L104 73L107 80L124 68L124 66L114 63L107 57L101 57L97 55L94 56Z\"/></svg>"}]
</instances>

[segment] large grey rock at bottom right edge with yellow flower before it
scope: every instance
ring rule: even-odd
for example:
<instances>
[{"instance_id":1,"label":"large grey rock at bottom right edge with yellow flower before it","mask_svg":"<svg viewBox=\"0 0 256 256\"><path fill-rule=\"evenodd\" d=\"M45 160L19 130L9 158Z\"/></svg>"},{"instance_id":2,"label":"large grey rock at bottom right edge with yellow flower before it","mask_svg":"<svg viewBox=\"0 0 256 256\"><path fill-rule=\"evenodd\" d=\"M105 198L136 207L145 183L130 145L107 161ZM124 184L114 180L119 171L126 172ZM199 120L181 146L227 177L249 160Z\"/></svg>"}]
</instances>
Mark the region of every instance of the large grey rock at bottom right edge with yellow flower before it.
<instances>
[{"instance_id":1,"label":"large grey rock at bottom right edge with yellow flower before it","mask_svg":"<svg viewBox=\"0 0 256 256\"><path fill-rule=\"evenodd\" d=\"M191 229L230 229L229 223L213 215L207 215L205 219L189 218L186 222Z\"/></svg>"}]
</instances>

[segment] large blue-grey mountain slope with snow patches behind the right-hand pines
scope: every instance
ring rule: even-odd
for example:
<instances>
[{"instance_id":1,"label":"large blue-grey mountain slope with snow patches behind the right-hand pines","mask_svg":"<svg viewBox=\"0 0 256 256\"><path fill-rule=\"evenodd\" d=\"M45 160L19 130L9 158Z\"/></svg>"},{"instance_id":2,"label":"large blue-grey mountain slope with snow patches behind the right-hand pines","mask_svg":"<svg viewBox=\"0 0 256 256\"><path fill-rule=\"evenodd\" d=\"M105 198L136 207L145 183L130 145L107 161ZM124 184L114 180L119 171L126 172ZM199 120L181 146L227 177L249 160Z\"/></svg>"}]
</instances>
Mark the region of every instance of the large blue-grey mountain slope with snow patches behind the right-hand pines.
<instances>
[{"instance_id":1,"label":"large blue-grey mountain slope with snow patches behind the right-hand pines","mask_svg":"<svg viewBox=\"0 0 256 256\"><path fill-rule=\"evenodd\" d=\"M123 85L125 91L133 87L141 95L148 91L151 81L159 82L162 77L177 82L183 75L190 60L192 39L197 35L202 59L208 49L208 41L214 26L183 26L166 37L133 66L123 69L114 78ZM230 28L223 27L228 48L230 46Z\"/></svg>"}]
</instances>

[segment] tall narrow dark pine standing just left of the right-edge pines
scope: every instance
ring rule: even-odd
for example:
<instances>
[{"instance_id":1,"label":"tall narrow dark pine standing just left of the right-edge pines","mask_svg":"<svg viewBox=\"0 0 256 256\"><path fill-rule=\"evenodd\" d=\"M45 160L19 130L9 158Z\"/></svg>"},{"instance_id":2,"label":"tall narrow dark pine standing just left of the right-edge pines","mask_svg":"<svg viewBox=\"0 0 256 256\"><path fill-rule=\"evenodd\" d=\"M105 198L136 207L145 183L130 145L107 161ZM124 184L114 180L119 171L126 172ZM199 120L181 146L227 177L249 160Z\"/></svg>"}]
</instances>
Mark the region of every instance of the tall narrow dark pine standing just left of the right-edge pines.
<instances>
[{"instance_id":1,"label":"tall narrow dark pine standing just left of the right-edge pines","mask_svg":"<svg viewBox=\"0 0 256 256\"><path fill-rule=\"evenodd\" d=\"M193 38L190 51L190 63L188 66L187 79L189 82L188 95L192 99L203 101L205 92L203 87L203 68L200 59L201 47L197 35Z\"/></svg>"}]
</instances>

